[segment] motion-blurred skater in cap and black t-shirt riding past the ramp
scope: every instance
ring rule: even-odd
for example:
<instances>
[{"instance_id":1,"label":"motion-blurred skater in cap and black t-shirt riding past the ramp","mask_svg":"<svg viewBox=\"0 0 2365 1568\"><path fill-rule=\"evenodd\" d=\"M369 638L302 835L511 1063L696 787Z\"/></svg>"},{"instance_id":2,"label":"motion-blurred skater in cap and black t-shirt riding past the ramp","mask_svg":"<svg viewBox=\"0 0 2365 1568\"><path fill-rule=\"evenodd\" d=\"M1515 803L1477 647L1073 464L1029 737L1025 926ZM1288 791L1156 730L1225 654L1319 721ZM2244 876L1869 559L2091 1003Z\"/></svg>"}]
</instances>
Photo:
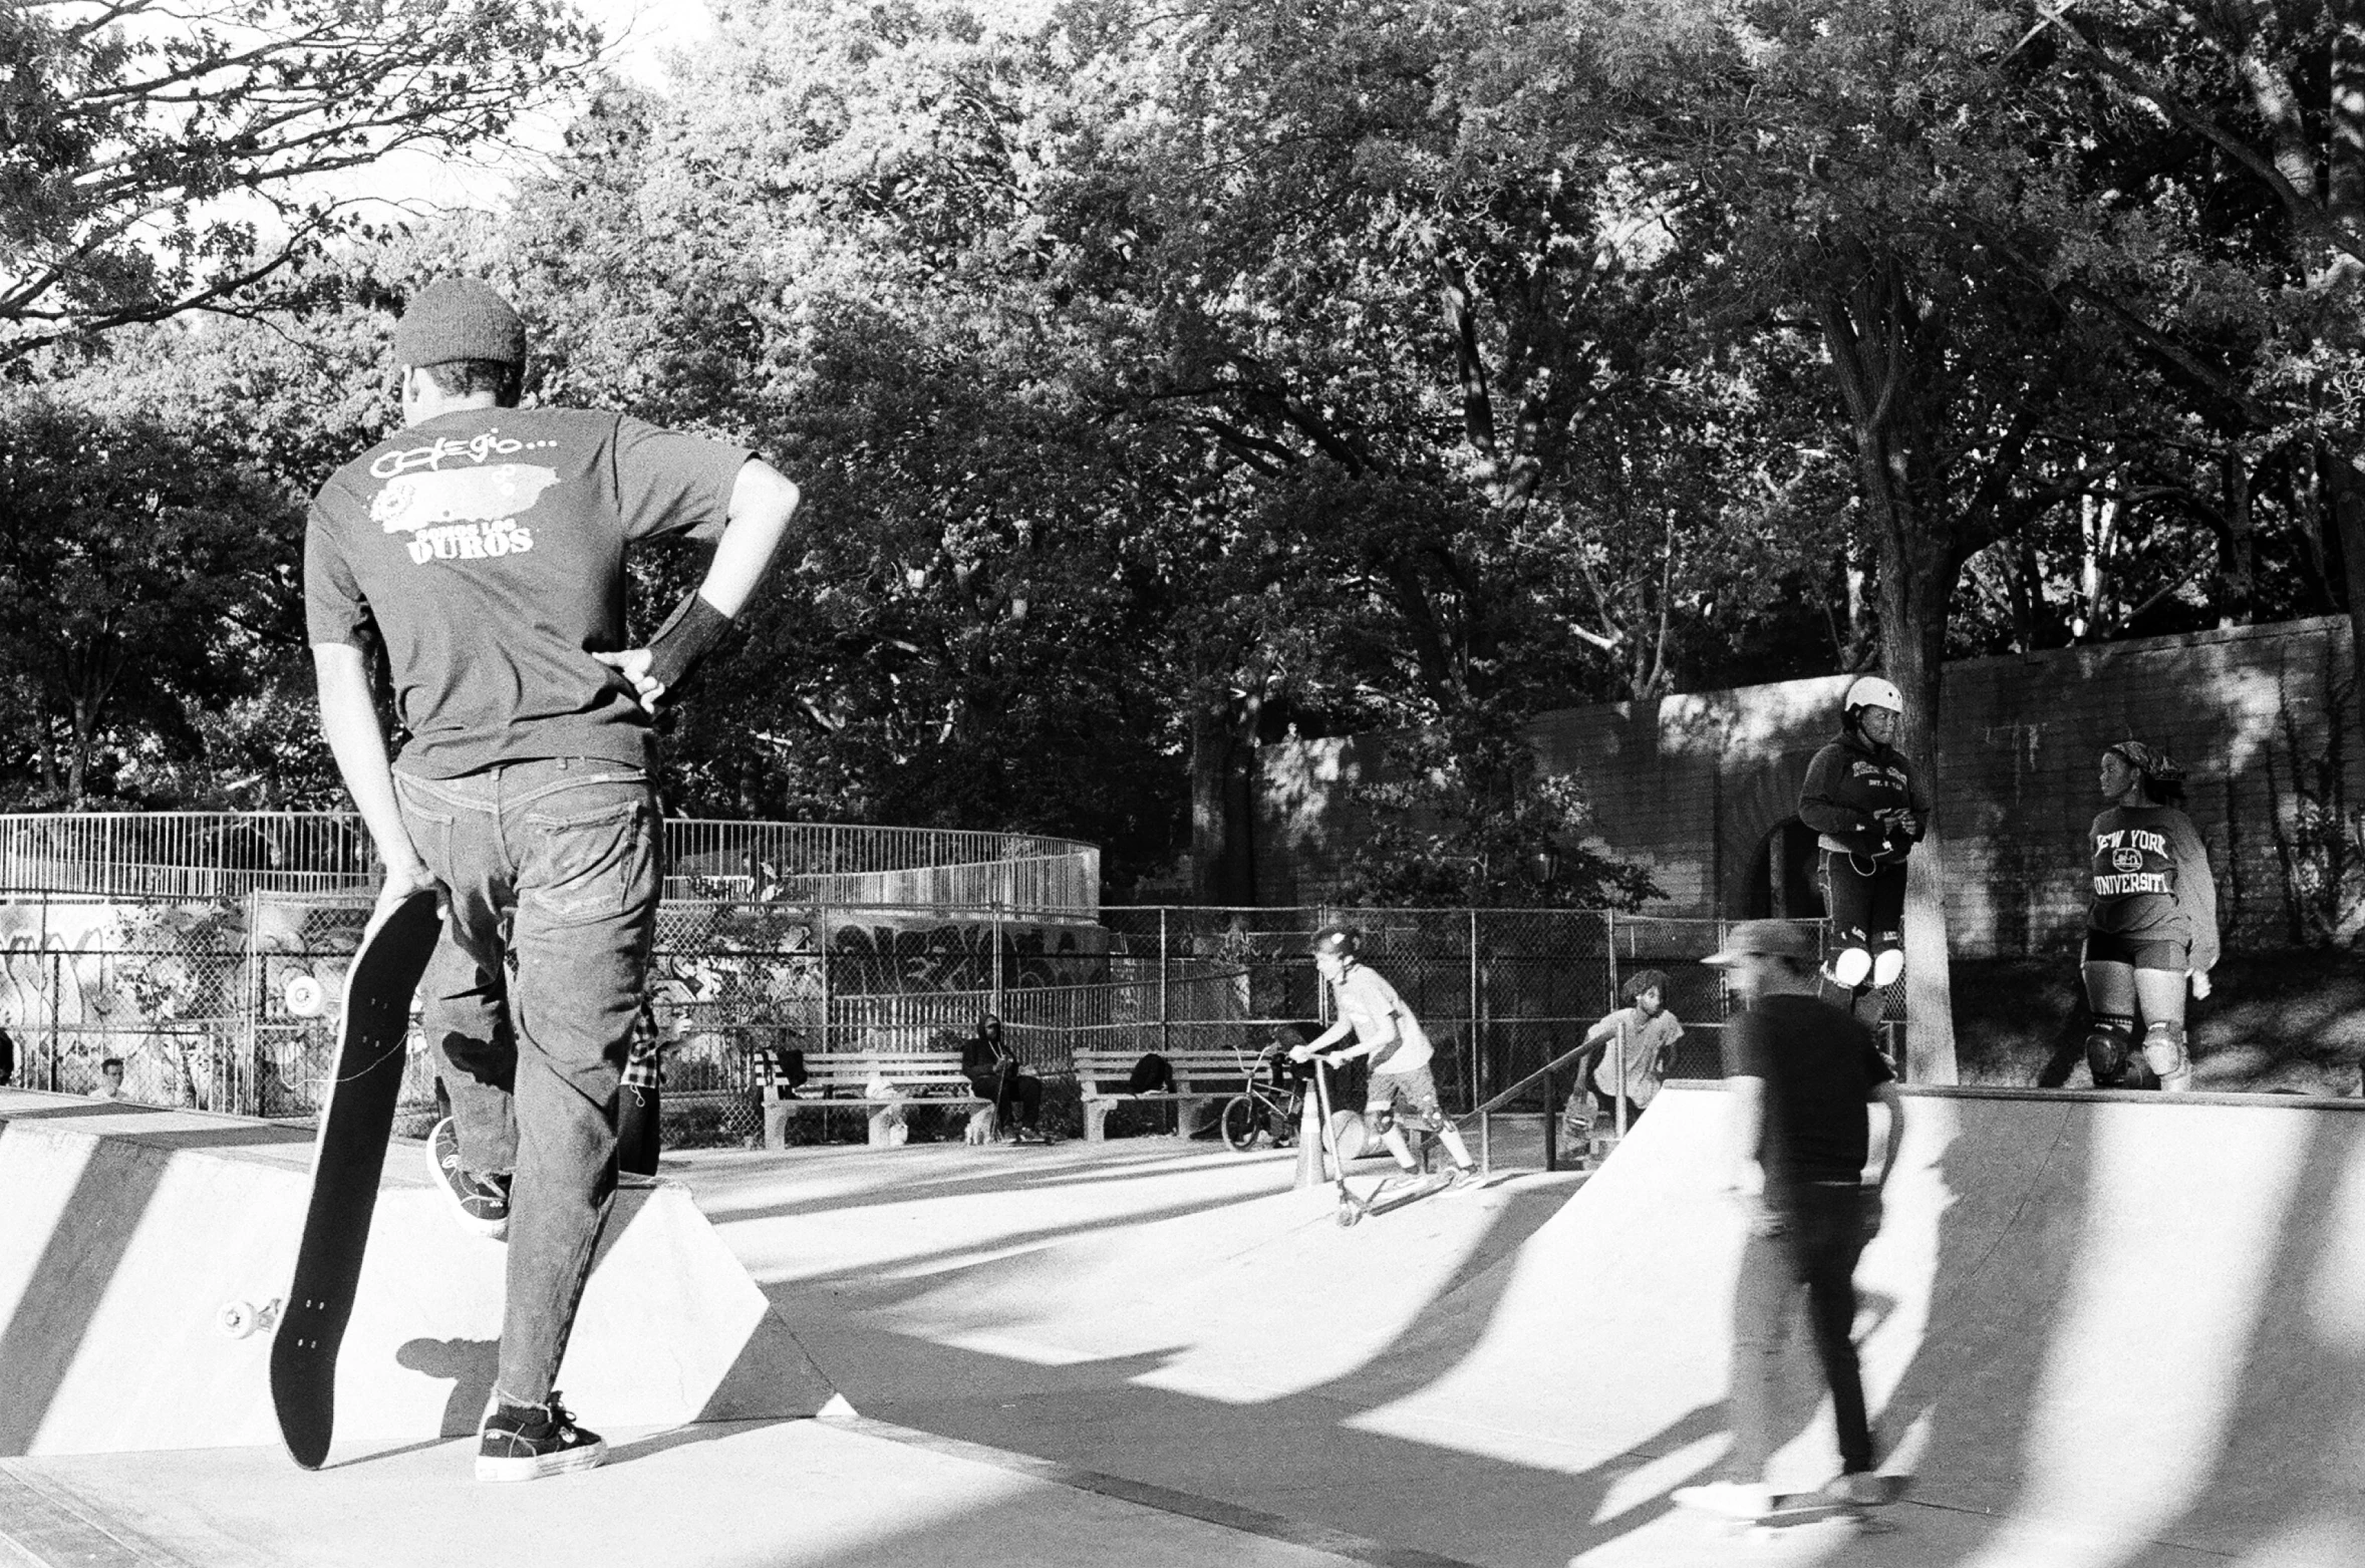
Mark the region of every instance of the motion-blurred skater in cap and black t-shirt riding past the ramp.
<instances>
[{"instance_id":1,"label":"motion-blurred skater in cap and black t-shirt riding past the ramp","mask_svg":"<svg viewBox=\"0 0 2365 1568\"><path fill-rule=\"evenodd\" d=\"M1726 1024L1736 1192L1748 1242L1734 1287L1734 1450L1726 1480L1682 1488L1674 1499L1734 1518L1774 1511L1767 1462L1776 1445L1781 1348L1800 1289L1814 1350L1831 1384L1840 1428L1840 1476L1828 1495L1845 1504L1890 1502L1894 1485L1873 1476L1873 1433L1849 1329L1857 1320L1857 1258L1880 1230L1880 1190L1904 1138L1904 1102L1873 1031L1816 996L1814 937L1783 920L1743 920L1722 953L1748 1010ZM1887 1107L1887 1142L1871 1185L1866 1104Z\"/></svg>"}]
</instances>

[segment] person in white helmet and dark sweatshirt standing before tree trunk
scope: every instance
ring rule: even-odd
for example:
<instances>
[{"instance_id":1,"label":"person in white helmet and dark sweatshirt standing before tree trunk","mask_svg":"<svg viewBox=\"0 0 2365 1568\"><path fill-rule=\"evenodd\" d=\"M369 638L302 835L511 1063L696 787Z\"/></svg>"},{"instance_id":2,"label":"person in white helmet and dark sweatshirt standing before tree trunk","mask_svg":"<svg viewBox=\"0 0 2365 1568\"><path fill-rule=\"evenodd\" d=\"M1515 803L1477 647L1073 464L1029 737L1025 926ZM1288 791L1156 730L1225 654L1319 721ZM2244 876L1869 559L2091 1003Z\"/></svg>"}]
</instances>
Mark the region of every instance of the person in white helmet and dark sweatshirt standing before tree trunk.
<instances>
[{"instance_id":1,"label":"person in white helmet and dark sweatshirt standing before tree trunk","mask_svg":"<svg viewBox=\"0 0 2365 1568\"><path fill-rule=\"evenodd\" d=\"M1859 676L1840 702L1840 733L1807 764L1797 792L1797 818L1823 849L1826 974L1857 996L1906 967L1906 856L1930 828L1930 799L1897 750L1904 714L1904 693Z\"/></svg>"}]
</instances>

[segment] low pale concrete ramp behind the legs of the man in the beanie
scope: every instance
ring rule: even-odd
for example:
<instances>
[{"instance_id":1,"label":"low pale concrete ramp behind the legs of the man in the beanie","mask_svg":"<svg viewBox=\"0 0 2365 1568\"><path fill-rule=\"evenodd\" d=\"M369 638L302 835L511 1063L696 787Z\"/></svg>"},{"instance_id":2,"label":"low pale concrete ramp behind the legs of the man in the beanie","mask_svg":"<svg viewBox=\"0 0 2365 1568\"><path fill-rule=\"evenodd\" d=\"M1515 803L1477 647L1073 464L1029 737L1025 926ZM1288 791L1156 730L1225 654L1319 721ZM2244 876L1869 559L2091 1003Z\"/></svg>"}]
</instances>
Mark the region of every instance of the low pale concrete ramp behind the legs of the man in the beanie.
<instances>
[{"instance_id":1,"label":"low pale concrete ramp behind the legs of the man in the beanie","mask_svg":"<svg viewBox=\"0 0 2365 1568\"><path fill-rule=\"evenodd\" d=\"M0 1454L277 1445L270 1334L307 1133L0 1090ZM475 1428L501 1334L499 1242L468 1237L397 1142L338 1362L338 1440ZM627 1187L561 1386L615 1426L814 1414L830 1388L674 1185Z\"/></svg>"}]
</instances>

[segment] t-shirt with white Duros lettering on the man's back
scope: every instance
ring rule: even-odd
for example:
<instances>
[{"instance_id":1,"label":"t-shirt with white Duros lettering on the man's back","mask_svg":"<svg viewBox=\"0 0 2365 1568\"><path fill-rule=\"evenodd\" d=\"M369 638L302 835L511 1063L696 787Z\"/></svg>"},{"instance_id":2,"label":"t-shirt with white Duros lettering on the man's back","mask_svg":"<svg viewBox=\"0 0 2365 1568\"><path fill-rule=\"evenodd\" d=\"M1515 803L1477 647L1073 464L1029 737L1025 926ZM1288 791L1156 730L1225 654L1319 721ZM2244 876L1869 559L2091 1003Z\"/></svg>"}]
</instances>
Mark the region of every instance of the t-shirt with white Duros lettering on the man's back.
<instances>
[{"instance_id":1,"label":"t-shirt with white Duros lettering on the man's back","mask_svg":"<svg viewBox=\"0 0 2365 1568\"><path fill-rule=\"evenodd\" d=\"M312 497L310 639L383 639L409 773L537 757L648 766L648 714L591 657L624 646L624 546L719 534L745 461L745 447L622 414L430 419Z\"/></svg>"}]
</instances>

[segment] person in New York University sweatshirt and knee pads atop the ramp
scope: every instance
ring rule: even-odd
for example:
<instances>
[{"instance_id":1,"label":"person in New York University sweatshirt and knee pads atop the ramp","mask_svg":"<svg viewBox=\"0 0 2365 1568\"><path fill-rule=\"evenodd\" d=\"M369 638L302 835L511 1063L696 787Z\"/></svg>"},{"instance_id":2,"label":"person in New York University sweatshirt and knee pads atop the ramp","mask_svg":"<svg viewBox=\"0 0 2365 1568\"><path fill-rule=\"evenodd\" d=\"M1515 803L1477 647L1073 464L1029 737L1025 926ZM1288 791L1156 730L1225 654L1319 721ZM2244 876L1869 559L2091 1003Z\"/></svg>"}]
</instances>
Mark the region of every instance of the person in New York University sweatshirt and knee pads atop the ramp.
<instances>
[{"instance_id":1,"label":"person in New York University sweatshirt and knee pads atop the ramp","mask_svg":"<svg viewBox=\"0 0 2365 1568\"><path fill-rule=\"evenodd\" d=\"M2185 799L2185 771L2140 740L2102 752L2110 806L2086 830L2086 948L2079 970L2095 1088L2192 1088L2185 993L2209 996L2218 960L2216 877ZM2136 1019L2143 1048L2136 1050Z\"/></svg>"}]
</instances>

